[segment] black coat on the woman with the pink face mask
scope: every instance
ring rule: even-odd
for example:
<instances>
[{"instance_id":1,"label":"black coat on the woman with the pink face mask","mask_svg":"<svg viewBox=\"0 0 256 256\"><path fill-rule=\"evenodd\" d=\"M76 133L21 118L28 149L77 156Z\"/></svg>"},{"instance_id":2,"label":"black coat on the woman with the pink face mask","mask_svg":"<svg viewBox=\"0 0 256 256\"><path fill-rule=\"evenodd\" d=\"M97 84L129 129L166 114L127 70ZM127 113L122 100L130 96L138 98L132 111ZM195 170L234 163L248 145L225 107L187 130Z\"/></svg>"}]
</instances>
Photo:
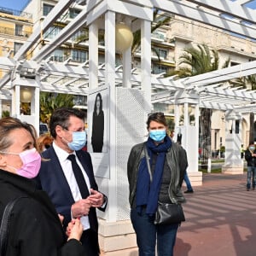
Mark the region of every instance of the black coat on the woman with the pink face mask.
<instances>
[{"instance_id":1,"label":"black coat on the woman with the pink face mask","mask_svg":"<svg viewBox=\"0 0 256 256\"><path fill-rule=\"evenodd\" d=\"M9 201L19 199L13 209L6 256L82 256L84 247L70 240L48 195L35 183L14 173L0 170L0 218Z\"/></svg>"}]
</instances>

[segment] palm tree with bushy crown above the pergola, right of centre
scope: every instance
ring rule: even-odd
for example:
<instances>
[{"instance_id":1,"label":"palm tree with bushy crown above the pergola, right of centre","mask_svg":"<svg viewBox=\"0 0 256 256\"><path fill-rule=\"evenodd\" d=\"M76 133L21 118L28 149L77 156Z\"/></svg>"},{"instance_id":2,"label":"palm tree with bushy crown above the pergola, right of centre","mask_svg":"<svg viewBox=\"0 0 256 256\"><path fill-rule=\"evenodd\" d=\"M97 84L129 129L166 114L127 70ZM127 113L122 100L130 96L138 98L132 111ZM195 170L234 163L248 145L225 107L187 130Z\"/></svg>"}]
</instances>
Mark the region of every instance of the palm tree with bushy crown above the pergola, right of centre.
<instances>
[{"instance_id":1,"label":"palm tree with bushy crown above the pergola, right of centre","mask_svg":"<svg viewBox=\"0 0 256 256\"><path fill-rule=\"evenodd\" d=\"M208 73L218 69L218 51L209 49L206 44L197 44L197 47L185 48L179 57L179 69L176 71L180 78ZM229 64L225 61L225 66ZM201 129L201 148L202 163L207 166L207 159L211 157L211 117L212 109L201 108L200 129Z\"/></svg>"}]
</instances>

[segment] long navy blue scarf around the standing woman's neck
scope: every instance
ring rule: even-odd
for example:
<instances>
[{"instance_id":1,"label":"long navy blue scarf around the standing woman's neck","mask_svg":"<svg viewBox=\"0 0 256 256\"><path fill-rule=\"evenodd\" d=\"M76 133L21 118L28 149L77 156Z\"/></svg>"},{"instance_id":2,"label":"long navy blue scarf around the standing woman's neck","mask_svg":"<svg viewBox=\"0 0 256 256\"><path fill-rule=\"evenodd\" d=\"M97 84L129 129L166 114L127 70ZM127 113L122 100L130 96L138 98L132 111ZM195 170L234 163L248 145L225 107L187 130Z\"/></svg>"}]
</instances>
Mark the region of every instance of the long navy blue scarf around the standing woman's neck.
<instances>
[{"instance_id":1,"label":"long navy blue scarf around the standing woman's neck","mask_svg":"<svg viewBox=\"0 0 256 256\"><path fill-rule=\"evenodd\" d=\"M147 206L146 213L149 216L152 216L157 209L166 152L172 147L172 140L170 137L166 136L164 143L160 143L156 146L154 141L148 137L146 146L148 149L148 156L150 158L150 166L152 163L153 153L157 154L157 160L155 163L152 183L150 183L146 157L143 157L141 160L137 175L136 208L137 212L141 213L142 207Z\"/></svg>"}]
</instances>

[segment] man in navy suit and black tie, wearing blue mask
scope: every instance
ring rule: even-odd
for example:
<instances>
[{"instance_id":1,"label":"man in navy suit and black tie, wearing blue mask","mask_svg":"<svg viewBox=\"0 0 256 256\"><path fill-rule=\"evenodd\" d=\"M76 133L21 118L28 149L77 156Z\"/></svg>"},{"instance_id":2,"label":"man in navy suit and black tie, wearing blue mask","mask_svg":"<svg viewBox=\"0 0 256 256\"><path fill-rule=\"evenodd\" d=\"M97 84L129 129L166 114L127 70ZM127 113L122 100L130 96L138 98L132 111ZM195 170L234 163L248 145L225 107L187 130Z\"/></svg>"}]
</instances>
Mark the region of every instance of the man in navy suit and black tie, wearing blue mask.
<instances>
[{"instance_id":1,"label":"man in navy suit and black tie, wearing blue mask","mask_svg":"<svg viewBox=\"0 0 256 256\"><path fill-rule=\"evenodd\" d=\"M107 197L98 191L90 154L81 150L86 143L84 112L75 108L58 108L49 121L54 138L43 152L38 174L39 186L64 216L63 225L80 218L84 226L81 242L88 255L99 255L96 208L105 211Z\"/></svg>"}]
</instances>

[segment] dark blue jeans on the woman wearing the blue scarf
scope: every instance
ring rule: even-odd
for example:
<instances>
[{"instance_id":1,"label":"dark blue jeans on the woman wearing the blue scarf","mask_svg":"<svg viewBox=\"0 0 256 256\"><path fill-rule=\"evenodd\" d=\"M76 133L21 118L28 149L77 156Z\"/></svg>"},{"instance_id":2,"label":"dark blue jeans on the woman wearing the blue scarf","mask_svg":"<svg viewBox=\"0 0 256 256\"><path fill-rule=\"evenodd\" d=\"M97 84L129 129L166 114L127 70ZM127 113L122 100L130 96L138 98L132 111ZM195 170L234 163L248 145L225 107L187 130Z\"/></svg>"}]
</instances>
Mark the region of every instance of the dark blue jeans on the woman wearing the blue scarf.
<instances>
[{"instance_id":1,"label":"dark blue jeans on the woman wearing the blue scarf","mask_svg":"<svg viewBox=\"0 0 256 256\"><path fill-rule=\"evenodd\" d=\"M176 241L178 224L154 224L154 218L149 217L143 209L142 214L131 209L131 223L137 235L139 256L155 256L157 242L158 256L172 256Z\"/></svg>"}]
</instances>

